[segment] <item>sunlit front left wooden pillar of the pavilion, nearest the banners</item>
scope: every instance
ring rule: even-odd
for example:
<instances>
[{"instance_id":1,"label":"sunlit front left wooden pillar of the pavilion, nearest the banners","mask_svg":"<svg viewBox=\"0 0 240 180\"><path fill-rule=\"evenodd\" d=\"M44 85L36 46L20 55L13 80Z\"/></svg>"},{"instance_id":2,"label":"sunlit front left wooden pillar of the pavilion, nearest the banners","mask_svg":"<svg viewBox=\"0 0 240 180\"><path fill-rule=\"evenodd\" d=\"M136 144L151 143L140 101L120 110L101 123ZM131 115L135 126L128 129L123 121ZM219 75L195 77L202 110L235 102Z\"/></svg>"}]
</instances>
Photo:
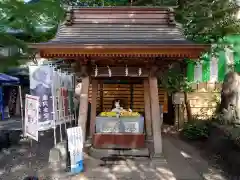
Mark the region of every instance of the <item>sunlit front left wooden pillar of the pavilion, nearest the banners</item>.
<instances>
[{"instance_id":1,"label":"sunlit front left wooden pillar of the pavilion, nearest the banners","mask_svg":"<svg viewBox=\"0 0 240 180\"><path fill-rule=\"evenodd\" d=\"M86 140L86 123L88 114L88 88L89 76L82 79L82 90L80 94L80 107L78 116L78 126L82 127L84 141Z\"/></svg>"}]
</instances>

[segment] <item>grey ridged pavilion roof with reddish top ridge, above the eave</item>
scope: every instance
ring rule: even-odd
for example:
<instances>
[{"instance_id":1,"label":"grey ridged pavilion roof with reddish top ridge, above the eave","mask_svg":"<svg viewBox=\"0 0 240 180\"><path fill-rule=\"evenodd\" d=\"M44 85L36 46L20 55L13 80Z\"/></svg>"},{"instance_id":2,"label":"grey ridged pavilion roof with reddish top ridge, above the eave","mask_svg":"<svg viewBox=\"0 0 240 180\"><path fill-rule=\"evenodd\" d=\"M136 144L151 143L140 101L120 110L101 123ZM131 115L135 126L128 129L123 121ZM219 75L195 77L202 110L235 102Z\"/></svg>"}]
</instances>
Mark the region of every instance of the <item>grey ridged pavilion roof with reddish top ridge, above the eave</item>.
<instances>
[{"instance_id":1,"label":"grey ridged pavilion roof with reddish top ridge, above the eave","mask_svg":"<svg viewBox=\"0 0 240 180\"><path fill-rule=\"evenodd\" d=\"M74 8L44 44L191 44L168 8Z\"/></svg>"}]
</instances>

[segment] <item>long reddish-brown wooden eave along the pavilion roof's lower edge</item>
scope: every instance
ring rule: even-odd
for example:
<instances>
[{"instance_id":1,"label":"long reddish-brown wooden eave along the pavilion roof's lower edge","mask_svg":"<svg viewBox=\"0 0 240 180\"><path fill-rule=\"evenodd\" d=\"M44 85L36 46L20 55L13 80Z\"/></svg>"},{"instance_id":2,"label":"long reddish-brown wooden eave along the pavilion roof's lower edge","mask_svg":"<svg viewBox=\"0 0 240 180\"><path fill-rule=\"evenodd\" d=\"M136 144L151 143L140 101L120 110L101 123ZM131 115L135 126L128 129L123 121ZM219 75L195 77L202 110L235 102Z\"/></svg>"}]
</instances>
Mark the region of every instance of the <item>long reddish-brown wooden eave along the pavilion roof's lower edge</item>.
<instances>
[{"instance_id":1,"label":"long reddish-brown wooden eave along the pavilion roof's lower edge","mask_svg":"<svg viewBox=\"0 0 240 180\"><path fill-rule=\"evenodd\" d=\"M76 45L71 44L32 44L40 50L41 57L79 58L79 57L161 57L198 59L209 45Z\"/></svg>"}]
</instances>

